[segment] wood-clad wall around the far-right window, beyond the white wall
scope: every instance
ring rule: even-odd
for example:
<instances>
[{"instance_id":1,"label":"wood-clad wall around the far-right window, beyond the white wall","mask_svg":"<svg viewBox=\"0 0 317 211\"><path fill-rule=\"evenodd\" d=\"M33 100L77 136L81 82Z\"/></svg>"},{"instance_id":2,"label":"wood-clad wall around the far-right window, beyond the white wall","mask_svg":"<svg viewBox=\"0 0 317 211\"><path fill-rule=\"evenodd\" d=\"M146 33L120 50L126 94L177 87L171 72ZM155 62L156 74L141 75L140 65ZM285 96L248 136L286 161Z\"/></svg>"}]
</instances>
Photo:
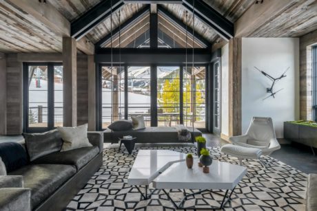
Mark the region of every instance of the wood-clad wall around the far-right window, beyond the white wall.
<instances>
[{"instance_id":1,"label":"wood-clad wall around the far-right window, beyond the white wall","mask_svg":"<svg viewBox=\"0 0 317 211\"><path fill-rule=\"evenodd\" d=\"M300 119L311 120L311 45L317 44L317 30L300 37Z\"/></svg>"}]
</instances>

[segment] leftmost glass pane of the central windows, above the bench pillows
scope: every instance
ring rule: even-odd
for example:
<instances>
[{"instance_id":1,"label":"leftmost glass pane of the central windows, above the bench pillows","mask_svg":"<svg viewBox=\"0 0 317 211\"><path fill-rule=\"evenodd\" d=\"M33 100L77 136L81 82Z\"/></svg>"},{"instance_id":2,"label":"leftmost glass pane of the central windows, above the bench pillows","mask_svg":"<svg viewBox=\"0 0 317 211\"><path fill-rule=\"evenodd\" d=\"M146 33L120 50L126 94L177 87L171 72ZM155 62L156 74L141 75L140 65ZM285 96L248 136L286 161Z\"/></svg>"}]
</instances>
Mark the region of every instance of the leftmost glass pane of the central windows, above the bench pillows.
<instances>
[{"instance_id":1,"label":"leftmost glass pane of the central windows, above the bench pillows","mask_svg":"<svg viewBox=\"0 0 317 211\"><path fill-rule=\"evenodd\" d=\"M102 128L107 128L112 122L124 119L124 80L123 67L102 67Z\"/></svg>"}]
</instances>

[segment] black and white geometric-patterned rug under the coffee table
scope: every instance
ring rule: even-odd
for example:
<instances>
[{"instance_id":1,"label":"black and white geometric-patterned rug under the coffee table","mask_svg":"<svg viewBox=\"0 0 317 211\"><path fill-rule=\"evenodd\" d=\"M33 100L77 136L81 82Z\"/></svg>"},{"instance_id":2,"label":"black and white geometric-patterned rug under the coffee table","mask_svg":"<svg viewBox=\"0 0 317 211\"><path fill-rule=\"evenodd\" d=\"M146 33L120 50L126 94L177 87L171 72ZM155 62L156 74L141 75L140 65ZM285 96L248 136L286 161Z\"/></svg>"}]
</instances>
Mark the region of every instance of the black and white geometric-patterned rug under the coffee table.
<instances>
[{"instance_id":1,"label":"black and white geometric-patterned rug under the coffee table","mask_svg":"<svg viewBox=\"0 0 317 211\"><path fill-rule=\"evenodd\" d=\"M119 152L118 148L105 148L103 166L70 201L65 210L175 210L162 190L155 190L151 199L141 200L141 194L136 188L126 184L139 149L149 148L136 148L132 155L123 150ZM157 146L151 149L196 153L194 146ZM235 157L221 153L219 147L209 148L209 151L214 159L238 164ZM266 164L267 168L263 168L256 161L243 162L244 166L248 166L249 178L244 177L236 186L232 201L229 201L223 210L305 210L307 175L272 157L267 157ZM167 191L175 201L183 198L183 190ZM187 193L191 191L197 190L186 190ZM186 201L184 207L219 206L221 200L221 196L206 192L194 195Z\"/></svg>"}]
</instances>

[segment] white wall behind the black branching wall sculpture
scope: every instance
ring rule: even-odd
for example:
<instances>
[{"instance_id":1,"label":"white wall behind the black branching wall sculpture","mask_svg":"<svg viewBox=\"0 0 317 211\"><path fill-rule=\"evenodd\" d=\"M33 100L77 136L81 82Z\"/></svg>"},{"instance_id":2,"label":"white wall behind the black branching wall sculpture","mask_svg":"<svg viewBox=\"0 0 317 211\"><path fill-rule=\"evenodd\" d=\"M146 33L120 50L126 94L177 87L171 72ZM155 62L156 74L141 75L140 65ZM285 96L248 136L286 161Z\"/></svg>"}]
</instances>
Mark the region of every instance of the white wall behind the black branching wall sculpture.
<instances>
[{"instance_id":1,"label":"white wall behind the black branching wall sculpture","mask_svg":"<svg viewBox=\"0 0 317 211\"><path fill-rule=\"evenodd\" d=\"M254 66L277 78L276 98L263 100L271 81ZM299 40L298 38L243 38L242 40L242 132L253 116L271 117L276 136L283 137L283 122L299 118Z\"/></svg>"}]
</instances>

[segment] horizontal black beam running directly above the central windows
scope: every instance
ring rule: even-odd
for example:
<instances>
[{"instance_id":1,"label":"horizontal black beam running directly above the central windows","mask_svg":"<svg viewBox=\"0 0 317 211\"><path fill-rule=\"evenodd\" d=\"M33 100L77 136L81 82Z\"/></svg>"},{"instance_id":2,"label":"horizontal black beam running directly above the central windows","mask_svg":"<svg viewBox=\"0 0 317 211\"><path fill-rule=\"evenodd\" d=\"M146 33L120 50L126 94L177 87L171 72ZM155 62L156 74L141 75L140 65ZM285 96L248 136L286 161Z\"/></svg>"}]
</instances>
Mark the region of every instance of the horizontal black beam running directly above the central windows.
<instances>
[{"instance_id":1,"label":"horizontal black beam running directly above the central windows","mask_svg":"<svg viewBox=\"0 0 317 211\"><path fill-rule=\"evenodd\" d=\"M196 64L210 63L212 55L208 48L194 49L194 62ZM111 56L112 55L112 56ZM96 63L118 63L124 61L127 65L176 65L186 63L185 48L99 48L94 56ZM113 58L113 60L111 60ZM187 63L192 63L192 49L187 49Z\"/></svg>"}]
</instances>

